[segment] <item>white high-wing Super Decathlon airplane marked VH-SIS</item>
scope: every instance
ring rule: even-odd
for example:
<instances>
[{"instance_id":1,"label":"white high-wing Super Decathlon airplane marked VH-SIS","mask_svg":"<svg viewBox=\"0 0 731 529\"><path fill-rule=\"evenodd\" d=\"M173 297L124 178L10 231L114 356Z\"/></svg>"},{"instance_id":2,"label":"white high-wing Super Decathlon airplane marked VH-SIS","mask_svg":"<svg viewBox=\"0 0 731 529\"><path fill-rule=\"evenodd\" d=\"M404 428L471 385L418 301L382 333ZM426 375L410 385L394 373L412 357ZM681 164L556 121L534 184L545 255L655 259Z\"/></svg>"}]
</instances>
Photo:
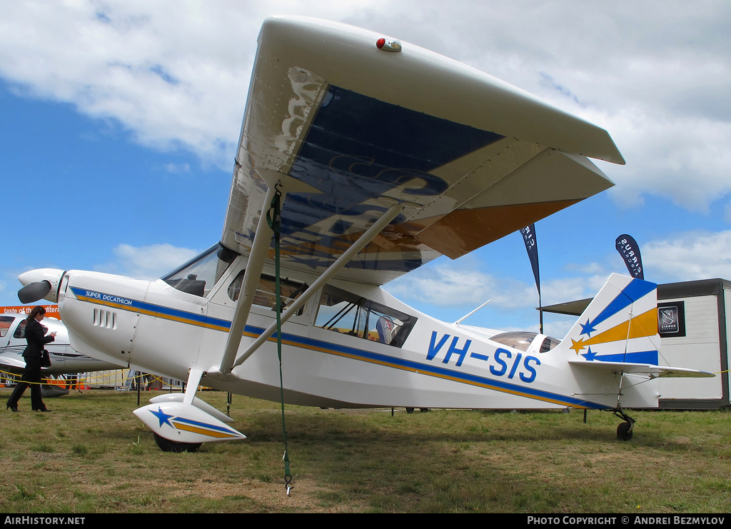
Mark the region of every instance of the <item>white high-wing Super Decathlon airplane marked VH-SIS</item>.
<instances>
[{"instance_id":1,"label":"white high-wing Super Decathlon airplane marked VH-SIS","mask_svg":"<svg viewBox=\"0 0 731 529\"><path fill-rule=\"evenodd\" d=\"M279 307L288 403L603 409L628 439L653 378L708 375L658 365L653 283L613 275L561 343L522 349L380 288L612 186L587 157L624 163L605 130L448 58L269 18L221 242L158 281L41 269L19 294L57 300L78 351L188 381L135 411L162 449L244 437L201 383L279 400Z\"/></svg>"}]
</instances>

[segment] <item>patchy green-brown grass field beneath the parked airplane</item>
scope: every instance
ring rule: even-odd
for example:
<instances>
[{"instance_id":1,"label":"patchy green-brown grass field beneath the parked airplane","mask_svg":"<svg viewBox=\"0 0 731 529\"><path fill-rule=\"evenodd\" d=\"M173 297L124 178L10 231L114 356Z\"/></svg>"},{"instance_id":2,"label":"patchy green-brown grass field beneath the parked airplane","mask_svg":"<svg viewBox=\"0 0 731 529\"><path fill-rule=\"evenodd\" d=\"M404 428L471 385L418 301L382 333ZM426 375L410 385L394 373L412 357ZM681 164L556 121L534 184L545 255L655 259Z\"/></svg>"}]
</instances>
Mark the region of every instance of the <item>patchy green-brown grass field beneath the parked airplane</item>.
<instances>
[{"instance_id":1,"label":"patchy green-brown grass field beneath the parked airplane","mask_svg":"<svg viewBox=\"0 0 731 529\"><path fill-rule=\"evenodd\" d=\"M1 402L10 389L0 389ZM143 392L142 405L156 392ZM226 395L201 395L224 410ZM0 511L731 511L731 413L635 412L632 441L607 412L499 413L287 406L294 488L284 488L279 404L234 396L245 441L161 452L137 394L72 392L50 414L4 411Z\"/></svg>"}]
</instances>

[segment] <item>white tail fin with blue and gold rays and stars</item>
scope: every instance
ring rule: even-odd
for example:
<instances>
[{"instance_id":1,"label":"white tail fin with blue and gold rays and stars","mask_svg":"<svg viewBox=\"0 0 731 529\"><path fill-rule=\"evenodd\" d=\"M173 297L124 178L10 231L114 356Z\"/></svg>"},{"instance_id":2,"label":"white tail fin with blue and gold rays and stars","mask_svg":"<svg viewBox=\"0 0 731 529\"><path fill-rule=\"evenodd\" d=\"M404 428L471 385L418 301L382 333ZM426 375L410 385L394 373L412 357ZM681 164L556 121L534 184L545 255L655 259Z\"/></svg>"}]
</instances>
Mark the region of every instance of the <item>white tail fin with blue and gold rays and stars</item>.
<instances>
[{"instance_id":1,"label":"white tail fin with blue and gold rays and stars","mask_svg":"<svg viewBox=\"0 0 731 529\"><path fill-rule=\"evenodd\" d=\"M657 285L612 274L553 351L569 359L658 364Z\"/></svg>"}]
</instances>

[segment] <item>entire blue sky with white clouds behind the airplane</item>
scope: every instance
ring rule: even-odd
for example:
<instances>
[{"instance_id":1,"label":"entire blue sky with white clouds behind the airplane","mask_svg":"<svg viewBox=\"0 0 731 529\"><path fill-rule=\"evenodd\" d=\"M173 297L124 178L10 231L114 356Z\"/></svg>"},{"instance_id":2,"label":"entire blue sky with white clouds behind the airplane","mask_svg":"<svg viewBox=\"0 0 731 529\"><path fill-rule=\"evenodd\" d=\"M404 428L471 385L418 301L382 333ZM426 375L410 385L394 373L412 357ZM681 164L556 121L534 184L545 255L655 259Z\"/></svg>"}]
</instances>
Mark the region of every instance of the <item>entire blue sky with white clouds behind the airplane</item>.
<instances>
[{"instance_id":1,"label":"entire blue sky with white clouds behind the airplane","mask_svg":"<svg viewBox=\"0 0 731 529\"><path fill-rule=\"evenodd\" d=\"M610 132L616 187L536 225L545 304L625 273L623 233L650 281L731 278L730 2L23 0L0 5L0 305L26 270L156 278L219 240L274 14L412 42ZM465 323L537 330L519 234L386 289L449 321L492 299Z\"/></svg>"}]
</instances>

